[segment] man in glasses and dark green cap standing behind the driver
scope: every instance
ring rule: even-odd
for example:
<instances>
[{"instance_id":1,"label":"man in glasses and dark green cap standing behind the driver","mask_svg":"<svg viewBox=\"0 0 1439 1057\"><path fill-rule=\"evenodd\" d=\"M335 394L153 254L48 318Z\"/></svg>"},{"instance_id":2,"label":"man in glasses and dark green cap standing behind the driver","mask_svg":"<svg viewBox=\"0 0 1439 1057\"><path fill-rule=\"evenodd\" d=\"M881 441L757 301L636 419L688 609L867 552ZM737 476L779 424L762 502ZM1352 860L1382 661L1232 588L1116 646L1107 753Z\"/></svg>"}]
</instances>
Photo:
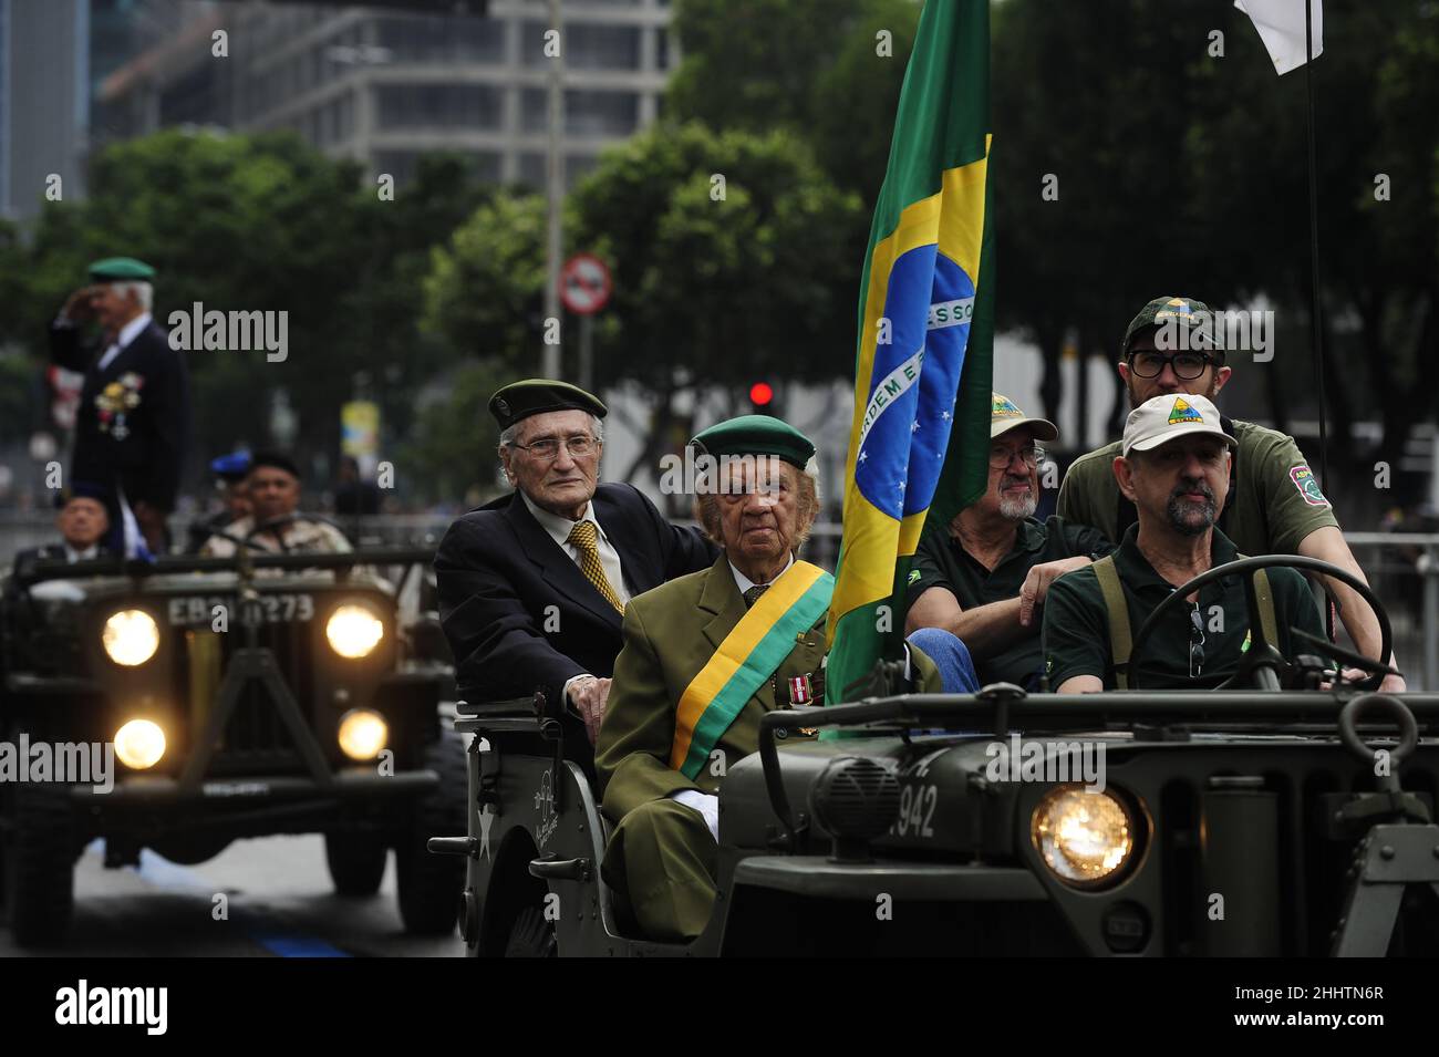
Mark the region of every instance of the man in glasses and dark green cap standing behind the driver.
<instances>
[{"instance_id":1,"label":"man in glasses and dark green cap standing behind the driver","mask_svg":"<svg viewBox=\"0 0 1439 1057\"><path fill-rule=\"evenodd\" d=\"M1160 395L1200 395L1215 400L1233 370L1213 341L1216 315L1193 298L1156 298L1130 321L1120 345L1120 378L1130 407ZM1344 542L1330 500L1320 490L1294 437L1249 421L1222 417L1238 447L1232 460L1229 499L1217 528L1240 554L1299 554L1364 572ZM1076 459L1059 488L1062 518L1092 525L1118 542L1135 523L1134 503L1120 492L1114 459L1120 441ZM1340 620L1360 653L1379 656L1380 631L1373 611L1347 584L1325 580ZM1397 662L1390 662L1399 667ZM1400 676L1387 676L1386 693L1404 689Z\"/></svg>"}]
</instances>

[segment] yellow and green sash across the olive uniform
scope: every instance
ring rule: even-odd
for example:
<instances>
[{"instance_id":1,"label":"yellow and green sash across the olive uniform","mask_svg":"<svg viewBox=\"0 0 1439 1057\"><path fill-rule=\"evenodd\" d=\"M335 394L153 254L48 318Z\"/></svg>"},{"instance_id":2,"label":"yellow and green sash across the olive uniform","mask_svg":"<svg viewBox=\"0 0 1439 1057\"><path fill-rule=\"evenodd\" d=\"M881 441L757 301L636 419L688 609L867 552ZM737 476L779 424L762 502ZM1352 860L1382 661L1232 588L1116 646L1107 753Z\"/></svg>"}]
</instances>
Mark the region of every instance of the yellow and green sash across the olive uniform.
<instances>
[{"instance_id":1,"label":"yellow and green sash across the olive uniform","mask_svg":"<svg viewBox=\"0 0 1439 1057\"><path fill-rule=\"evenodd\" d=\"M829 610L835 578L796 561L724 637L679 699L669 765L694 779L745 702Z\"/></svg>"}]
</instances>

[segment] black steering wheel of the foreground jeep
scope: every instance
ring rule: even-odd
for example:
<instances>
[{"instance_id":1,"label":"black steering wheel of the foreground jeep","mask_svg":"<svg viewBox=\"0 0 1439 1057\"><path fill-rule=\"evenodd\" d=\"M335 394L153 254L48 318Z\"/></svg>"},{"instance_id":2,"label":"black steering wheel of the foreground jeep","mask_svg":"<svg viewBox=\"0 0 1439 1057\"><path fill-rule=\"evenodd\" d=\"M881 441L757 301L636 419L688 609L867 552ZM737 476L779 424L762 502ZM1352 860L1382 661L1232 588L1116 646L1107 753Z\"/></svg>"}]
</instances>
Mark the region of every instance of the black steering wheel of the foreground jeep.
<instances>
[{"instance_id":1,"label":"black steering wheel of the foreground jeep","mask_svg":"<svg viewBox=\"0 0 1439 1057\"><path fill-rule=\"evenodd\" d=\"M1258 669L1266 667L1271 674L1276 674L1279 672L1286 670L1289 667L1289 662L1285 660L1282 653L1279 653L1278 644L1271 643L1265 636L1263 621L1256 620L1259 613L1259 604L1258 604L1258 587L1255 585L1255 572L1268 568L1309 569L1312 572L1322 572L1325 577L1334 577L1334 580L1348 584L1358 592L1358 595L1366 601L1366 604L1368 604L1368 608L1373 610L1374 617L1379 620L1379 631L1380 631L1379 656L1383 657L1383 660L1373 660L1358 653L1351 653L1350 650L1334 646L1328 641L1317 640L1314 636L1297 627L1291 627L1289 631L1294 633L1295 636L1314 641L1317 646L1321 646L1328 653L1350 662L1356 667L1361 667L1370 672L1371 673L1370 676L1351 683L1351 686L1360 690L1377 690L1379 685L1384 682L1384 676L1394 672L1394 669L1389 666L1389 662L1393 657L1392 649L1394 646L1394 633L1393 628L1390 628L1389 626L1389 614L1384 611L1384 607L1379 601L1379 597L1368 587L1368 584L1366 584L1363 580L1356 577L1348 569L1340 568L1333 562L1320 561L1318 558L1305 558L1301 555L1284 555L1284 554L1261 555L1258 558L1240 558L1239 561L1226 562L1225 565L1216 565L1207 572L1199 574L1183 587L1174 588L1174 592L1168 598L1166 598L1164 601L1161 601L1158 605L1154 607L1154 611L1150 613L1148 618L1144 621L1144 624L1140 626L1138 633L1134 636L1134 643L1130 647L1130 687L1134 690L1140 689L1138 664L1135 664L1135 657L1138 657L1140 654L1140 646L1147 643L1150 640L1150 636L1153 636L1154 628L1158 627L1161 614L1174 608L1180 603L1184 603L1189 598L1189 595L1194 594L1199 588L1212 584L1216 580L1220 580L1222 577L1248 574L1245 575L1245 610L1248 611L1249 616L1249 650L1245 651L1243 660L1239 663L1239 670L1235 672L1235 674L1229 676L1229 679L1222 682L1215 689L1227 690L1232 686L1242 686L1242 685L1256 685L1261 689L1271 689L1266 686L1262 676L1258 680L1255 680L1255 673L1258 672ZM1278 687L1275 686L1272 689Z\"/></svg>"}]
</instances>

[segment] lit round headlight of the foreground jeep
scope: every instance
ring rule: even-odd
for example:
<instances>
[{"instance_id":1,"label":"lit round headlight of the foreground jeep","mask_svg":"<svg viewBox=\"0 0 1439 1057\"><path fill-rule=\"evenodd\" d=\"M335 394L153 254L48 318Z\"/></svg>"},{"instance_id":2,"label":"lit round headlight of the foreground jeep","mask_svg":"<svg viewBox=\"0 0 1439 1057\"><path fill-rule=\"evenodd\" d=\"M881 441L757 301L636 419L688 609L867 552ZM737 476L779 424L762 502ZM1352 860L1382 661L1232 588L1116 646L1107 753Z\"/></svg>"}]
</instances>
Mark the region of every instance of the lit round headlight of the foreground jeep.
<instances>
[{"instance_id":1,"label":"lit round headlight of the foreground jeep","mask_svg":"<svg viewBox=\"0 0 1439 1057\"><path fill-rule=\"evenodd\" d=\"M1108 791L1058 785L1030 817L1030 837L1045 864L1062 882L1098 886L1134 854L1134 823L1128 808Z\"/></svg>"}]
</instances>

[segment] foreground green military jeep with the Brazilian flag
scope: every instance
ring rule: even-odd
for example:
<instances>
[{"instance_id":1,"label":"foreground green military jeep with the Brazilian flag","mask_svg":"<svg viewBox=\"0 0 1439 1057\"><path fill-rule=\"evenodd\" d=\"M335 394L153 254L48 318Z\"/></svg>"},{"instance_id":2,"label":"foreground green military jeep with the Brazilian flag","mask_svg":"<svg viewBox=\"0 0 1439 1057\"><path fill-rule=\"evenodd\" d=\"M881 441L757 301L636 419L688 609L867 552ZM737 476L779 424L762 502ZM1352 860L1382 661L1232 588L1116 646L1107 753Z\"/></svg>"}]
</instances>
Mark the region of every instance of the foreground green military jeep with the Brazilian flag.
<instances>
[{"instance_id":1,"label":"foreground green military jeep with the Brazilian flag","mask_svg":"<svg viewBox=\"0 0 1439 1057\"><path fill-rule=\"evenodd\" d=\"M1354 582L1304 558L1206 578L1279 564ZM1387 669L1327 644L1373 674L1320 689L1327 662L1253 636L1213 692L921 696L881 666L856 703L768 713L721 785L718 899L688 945L637 935L600 877L587 746L543 697L460 703L469 827L430 848L468 863L476 956L1439 952L1439 695L1373 693ZM802 728L842 736L784 745Z\"/></svg>"}]
</instances>

